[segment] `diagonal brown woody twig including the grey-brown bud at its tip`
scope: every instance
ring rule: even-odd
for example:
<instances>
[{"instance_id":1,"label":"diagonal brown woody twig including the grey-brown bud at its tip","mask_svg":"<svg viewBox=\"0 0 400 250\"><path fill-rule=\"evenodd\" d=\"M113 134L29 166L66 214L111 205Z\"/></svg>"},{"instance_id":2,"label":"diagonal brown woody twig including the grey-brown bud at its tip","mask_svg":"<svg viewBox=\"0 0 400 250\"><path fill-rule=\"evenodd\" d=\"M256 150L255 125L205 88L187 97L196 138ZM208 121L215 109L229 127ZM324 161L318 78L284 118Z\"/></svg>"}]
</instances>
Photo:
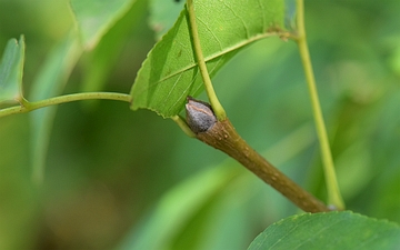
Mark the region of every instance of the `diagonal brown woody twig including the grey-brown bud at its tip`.
<instances>
[{"instance_id":1,"label":"diagonal brown woody twig including the grey-brown bud at its tip","mask_svg":"<svg viewBox=\"0 0 400 250\"><path fill-rule=\"evenodd\" d=\"M188 97L186 109L188 126L197 139L239 161L302 210L307 212L330 211L321 201L254 151L238 134L229 119L218 121L211 106Z\"/></svg>"}]
</instances>

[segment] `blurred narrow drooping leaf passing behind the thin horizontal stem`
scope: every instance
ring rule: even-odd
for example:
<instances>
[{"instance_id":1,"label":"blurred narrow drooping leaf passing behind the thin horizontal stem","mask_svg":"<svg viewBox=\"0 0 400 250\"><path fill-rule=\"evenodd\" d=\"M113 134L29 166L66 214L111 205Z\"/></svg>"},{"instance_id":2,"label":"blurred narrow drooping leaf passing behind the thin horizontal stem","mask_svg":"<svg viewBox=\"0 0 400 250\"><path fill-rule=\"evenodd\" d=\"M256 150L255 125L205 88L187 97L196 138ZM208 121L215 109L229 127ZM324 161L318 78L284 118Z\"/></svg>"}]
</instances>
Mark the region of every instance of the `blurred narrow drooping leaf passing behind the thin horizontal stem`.
<instances>
[{"instance_id":1,"label":"blurred narrow drooping leaf passing behind the thin horizontal stem","mask_svg":"<svg viewBox=\"0 0 400 250\"><path fill-rule=\"evenodd\" d=\"M71 32L50 52L33 82L30 100L39 101L60 94L81 53L78 36ZM38 182L43 179L44 160L56 111L57 107L49 107L30 113L33 179Z\"/></svg>"}]
</instances>

